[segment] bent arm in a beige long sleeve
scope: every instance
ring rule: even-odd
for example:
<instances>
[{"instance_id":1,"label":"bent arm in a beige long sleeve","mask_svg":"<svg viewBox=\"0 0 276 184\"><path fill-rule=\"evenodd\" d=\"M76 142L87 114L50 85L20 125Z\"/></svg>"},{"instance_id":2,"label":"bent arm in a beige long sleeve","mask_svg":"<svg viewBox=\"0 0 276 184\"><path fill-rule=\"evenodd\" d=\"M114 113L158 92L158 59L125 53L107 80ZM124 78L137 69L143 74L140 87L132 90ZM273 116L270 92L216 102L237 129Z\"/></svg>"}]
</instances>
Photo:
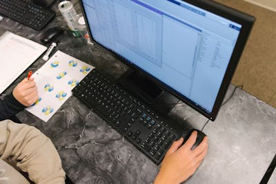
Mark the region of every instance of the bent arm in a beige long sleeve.
<instances>
[{"instance_id":1,"label":"bent arm in a beige long sleeve","mask_svg":"<svg viewBox=\"0 0 276 184\"><path fill-rule=\"evenodd\" d=\"M0 122L0 158L17 161L34 183L64 183L61 159L50 139L35 127Z\"/></svg>"}]
</instances>

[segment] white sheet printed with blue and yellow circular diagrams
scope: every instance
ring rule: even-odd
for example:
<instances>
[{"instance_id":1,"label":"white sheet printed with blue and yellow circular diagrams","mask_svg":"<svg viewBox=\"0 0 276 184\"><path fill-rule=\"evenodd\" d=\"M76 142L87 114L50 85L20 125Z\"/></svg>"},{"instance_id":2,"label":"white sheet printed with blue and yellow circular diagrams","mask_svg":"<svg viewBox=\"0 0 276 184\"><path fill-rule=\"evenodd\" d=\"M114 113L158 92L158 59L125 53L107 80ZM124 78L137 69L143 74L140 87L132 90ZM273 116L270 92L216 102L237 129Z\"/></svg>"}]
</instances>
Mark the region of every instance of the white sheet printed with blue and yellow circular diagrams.
<instances>
[{"instance_id":1,"label":"white sheet printed with blue and yellow circular diagrams","mask_svg":"<svg viewBox=\"0 0 276 184\"><path fill-rule=\"evenodd\" d=\"M71 90L93 68L92 65L58 50L49 61L32 74L37 83L39 99L26 110L47 122L72 95Z\"/></svg>"}]
</instances>

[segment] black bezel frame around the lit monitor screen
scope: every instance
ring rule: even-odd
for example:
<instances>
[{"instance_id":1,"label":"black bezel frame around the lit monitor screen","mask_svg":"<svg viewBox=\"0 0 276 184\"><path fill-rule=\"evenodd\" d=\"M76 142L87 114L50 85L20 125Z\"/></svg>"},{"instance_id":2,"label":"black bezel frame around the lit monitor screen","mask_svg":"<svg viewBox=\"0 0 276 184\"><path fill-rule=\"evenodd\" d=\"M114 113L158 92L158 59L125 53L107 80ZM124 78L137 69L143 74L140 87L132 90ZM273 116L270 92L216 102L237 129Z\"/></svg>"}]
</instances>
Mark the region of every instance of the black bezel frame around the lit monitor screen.
<instances>
[{"instance_id":1,"label":"black bezel frame around the lit monitor screen","mask_svg":"<svg viewBox=\"0 0 276 184\"><path fill-rule=\"evenodd\" d=\"M226 19L229 19L230 21L239 23L242 25L242 29L240 30L239 37L237 39L237 43L235 45L235 48L233 50L232 57L230 58L228 67L226 69L226 73L224 75L224 79L221 82L221 87L219 88L219 92L217 94L217 99L215 100L213 110L212 112L208 113L204 111L204 108L200 108L199 105L195 104L195 102L191 101L190 99L186 98L186 96L181 95L179 92L176 90L173 90L170 88L166 83L163 83L162 81L159 81L159 79L155 78L155 76L152 76L148 72L142 70L141 68L137 67L137 65L133 64L131 61L128 61L124 57L121 57L119 54L116 52L113 52L112 50L104 47L101 45L101 43L98 43L93 37L92 37L92 32L90 31L90 25L88 23L87 17L86 17L86 12L83 8L83 1L79 0L79 4L81 6L81 11L83 13L83 17L86 21L88 33L90 35L90 39L92 41L95 41L99 45L101 45L103 48L106 48L106 50L109 50L112 52L112 54L117 57L120 61L128 65L130 68L133 70L143 74L144 76L148 77L150 80L154 81L158 85L161 86L161 88L164 88L164 90L167 90L171 94L177 96L178 99L181 101L184 101L187 105L189 105L191 108L197 110L197 112L201 113L202 115L206 116L208 119L211 121L215 121L217 114L219 112L219 109L221 107L221 103L224 101L224 96L226 95L226 92L228 90L228 86L230 85L230 82L233 78L233 75L235 73L235 70L237 68L237 64L239 63L239 59L242 56L242 52L244 50L244 47L246 45L246 41L248 40L250 31L253 28L253 24L255 22L255 17L250 16L249 14L245 14L244 12L240 12L238 10L235 10L233 8L229 8L227 6L224 6L220 3L217 3L215 1L211 0L181 0L186 3L190 3L194 6L197 6L199 8L202 8L204 10L208 10L209 12L213 12L214 14L217 14L221 17L224 17Z\"/></svg>"}]
</instances>

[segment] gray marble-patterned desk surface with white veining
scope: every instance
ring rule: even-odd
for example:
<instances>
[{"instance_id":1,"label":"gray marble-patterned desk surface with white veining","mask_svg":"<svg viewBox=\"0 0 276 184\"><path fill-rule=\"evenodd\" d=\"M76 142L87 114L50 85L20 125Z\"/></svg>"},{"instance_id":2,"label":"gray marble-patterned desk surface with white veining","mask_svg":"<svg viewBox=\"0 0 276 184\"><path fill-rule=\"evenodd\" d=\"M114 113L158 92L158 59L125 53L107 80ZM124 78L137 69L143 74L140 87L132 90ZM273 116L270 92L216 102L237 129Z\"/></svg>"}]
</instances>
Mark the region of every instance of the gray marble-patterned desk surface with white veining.
<instances>
[{"instance_id":1,"label":"gray marble-patterned desk surface with white veining","mask_svg":"<svg viewBox=\"0 0 276 184\"><path fill-rule=\"evenodd\" d=\"M55 25L66 27L60 14L44 30ZM4 18L0 22L0 35L6 31L37 42L41 35L41 32ZM73 38L68 31L59 42L57 48L62 52L90 63L112 77L117 78L127 70L126 65L110 52L97 44L88 45L81 38ZM40 58L30 69L35 71L44 62ZM4 94L11 92L27 72ZM226 98L234 88L230 85ZM184 104L176 105L170 115L184 119L184 123L190 123L197 129L206 122L204 116ZM26 111L20 112L17 117L52 139L64 170L75 183L151 183L159 170L159 166L75 96L68 99L47 123ZM275 108L240 89L221 108L217 120L208 123L204 132L209 138L208 154L186 183L259 183L276 154ZM276 183L275 172L270 183Z\"/></svg>"}]
</instances>

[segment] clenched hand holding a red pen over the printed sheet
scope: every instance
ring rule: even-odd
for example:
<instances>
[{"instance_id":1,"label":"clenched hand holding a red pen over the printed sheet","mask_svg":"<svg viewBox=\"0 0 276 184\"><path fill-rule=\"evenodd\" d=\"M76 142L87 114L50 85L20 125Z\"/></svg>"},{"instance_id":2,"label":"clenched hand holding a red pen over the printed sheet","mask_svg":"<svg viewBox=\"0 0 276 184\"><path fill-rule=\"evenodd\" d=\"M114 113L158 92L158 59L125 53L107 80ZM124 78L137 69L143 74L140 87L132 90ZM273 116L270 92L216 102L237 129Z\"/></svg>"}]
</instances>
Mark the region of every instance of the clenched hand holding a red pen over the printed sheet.
<instances>
[{"instance_id":1,"label":"clenched hand holding a red pen over the printed sheet","mask_svg":"<svg viewBox=\"0 0 276 184\"><path fill-rule=\"evenodd\" d=\"M33 78L30 78L29 81L27 78L23 79L23 81L14 88L12 94L17 101L27 107L39 99L39 92L37 91L37 85Z\"/></svg>"}]
</instances>

